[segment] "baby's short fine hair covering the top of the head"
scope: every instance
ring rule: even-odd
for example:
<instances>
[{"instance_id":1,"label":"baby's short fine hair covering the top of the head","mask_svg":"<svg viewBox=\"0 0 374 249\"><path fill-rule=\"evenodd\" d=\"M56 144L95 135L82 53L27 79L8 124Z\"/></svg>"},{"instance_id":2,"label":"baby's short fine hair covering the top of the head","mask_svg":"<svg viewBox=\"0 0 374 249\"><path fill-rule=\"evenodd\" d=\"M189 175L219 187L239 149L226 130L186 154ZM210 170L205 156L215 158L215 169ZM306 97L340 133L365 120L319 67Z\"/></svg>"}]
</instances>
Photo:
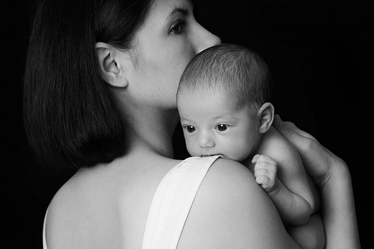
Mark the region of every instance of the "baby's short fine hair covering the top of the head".
<instances>
[{"instance_id":1,"label":"baby's short fine hair covering the top of the head","mask_svg":"<svg viewBox=\"0 0 374 249\"><path fill-rule=\"evenodd\" d=\"M198 53L185 68L178 86L181 95L223 92L236 101L236 109L258 108L271 98L273 78L268 65L253 50L220 44Z\"/></svg>"}]
</instances>

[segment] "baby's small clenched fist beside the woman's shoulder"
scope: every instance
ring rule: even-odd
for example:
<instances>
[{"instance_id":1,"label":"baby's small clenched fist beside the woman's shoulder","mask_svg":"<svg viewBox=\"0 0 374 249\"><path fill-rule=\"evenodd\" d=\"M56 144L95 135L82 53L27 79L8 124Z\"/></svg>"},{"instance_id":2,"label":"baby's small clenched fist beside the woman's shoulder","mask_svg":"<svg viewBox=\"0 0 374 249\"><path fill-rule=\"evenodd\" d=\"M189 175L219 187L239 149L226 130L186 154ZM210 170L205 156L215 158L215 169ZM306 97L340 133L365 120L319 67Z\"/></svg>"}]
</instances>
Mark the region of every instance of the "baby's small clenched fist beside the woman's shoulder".
<instances>
[{"instance_id":1,"label":"baby's small clenched fist beside the woman's shoulder","mask_svg":"<svg viewBox=\"0 0 374 249\"><path fill-rule=\"evenodd\" d=\"M252 163L255 164L254 176L256 177L256 182L261 184L268 194L275 190L278 185L277 163L267 155L259 154L253 157Z\"/></svg>"}]
</instances>

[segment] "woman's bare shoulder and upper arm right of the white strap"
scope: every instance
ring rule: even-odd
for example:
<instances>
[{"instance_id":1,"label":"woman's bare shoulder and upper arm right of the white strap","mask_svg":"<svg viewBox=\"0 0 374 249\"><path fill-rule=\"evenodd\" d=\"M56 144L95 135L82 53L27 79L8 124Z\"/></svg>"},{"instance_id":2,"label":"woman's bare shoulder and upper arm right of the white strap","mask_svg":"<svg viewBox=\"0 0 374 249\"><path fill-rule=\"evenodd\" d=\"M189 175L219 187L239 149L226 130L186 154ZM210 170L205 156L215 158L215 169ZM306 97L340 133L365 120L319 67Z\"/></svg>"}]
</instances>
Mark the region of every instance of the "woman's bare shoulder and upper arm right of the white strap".
<instances>
[{"instance_id":1,"label":"woman's bare shoulder and upper arm right of the white strap","mask_svg":"<svg viewBox=\"0 0 374 249\"><path fill-rule=\"evenodd\" d=\"M205 176L178 248L292 248L274 204L253 174L218 159Z\"/></svg>"}]
</instances>

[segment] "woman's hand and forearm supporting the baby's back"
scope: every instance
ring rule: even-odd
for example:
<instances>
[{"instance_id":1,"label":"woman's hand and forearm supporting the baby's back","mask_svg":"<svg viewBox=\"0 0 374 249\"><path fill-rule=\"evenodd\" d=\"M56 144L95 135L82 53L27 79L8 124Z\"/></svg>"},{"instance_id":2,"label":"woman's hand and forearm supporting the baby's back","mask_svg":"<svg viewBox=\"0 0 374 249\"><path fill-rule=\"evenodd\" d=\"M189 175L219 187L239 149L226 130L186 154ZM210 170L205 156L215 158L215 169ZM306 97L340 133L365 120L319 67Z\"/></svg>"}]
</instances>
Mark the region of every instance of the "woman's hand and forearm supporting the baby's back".
<instances>
[{"instance_id":1,"label":"woman's hand and forearm supporting the baby's back","mask_svg":"<svg viewBox=\"0 0 374 249\"><path fill-rule=\"evenodd\" d=\"M299 151L322 194L325 248L360 248L351 175L347 165L313 136L275 115L274 127Z\"/></svg>"}]
</instances>

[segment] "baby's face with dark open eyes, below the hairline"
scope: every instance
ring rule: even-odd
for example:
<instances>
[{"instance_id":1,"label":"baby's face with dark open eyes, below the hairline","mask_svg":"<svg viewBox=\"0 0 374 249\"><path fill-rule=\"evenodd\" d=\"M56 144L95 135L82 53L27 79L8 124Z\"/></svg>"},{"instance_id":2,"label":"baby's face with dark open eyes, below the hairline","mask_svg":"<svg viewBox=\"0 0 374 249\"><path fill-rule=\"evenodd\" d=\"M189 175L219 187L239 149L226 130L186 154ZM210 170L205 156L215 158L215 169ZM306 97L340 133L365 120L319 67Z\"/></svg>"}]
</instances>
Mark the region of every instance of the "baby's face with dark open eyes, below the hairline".
<instances>
[{"instance_id":1,"label":"baby's face with dark open eyes, below the hairline","mask_svg":"<svg viewBox=\"0 0 374 249\"><path fill-rule=\"evenodd\" d=\"M236 111L227 96L180 96L177 104L186 147L193 157L224 154L242 162L256 149L260 133L255 114L247 108Z\"/></svg>"}]
</instances>

